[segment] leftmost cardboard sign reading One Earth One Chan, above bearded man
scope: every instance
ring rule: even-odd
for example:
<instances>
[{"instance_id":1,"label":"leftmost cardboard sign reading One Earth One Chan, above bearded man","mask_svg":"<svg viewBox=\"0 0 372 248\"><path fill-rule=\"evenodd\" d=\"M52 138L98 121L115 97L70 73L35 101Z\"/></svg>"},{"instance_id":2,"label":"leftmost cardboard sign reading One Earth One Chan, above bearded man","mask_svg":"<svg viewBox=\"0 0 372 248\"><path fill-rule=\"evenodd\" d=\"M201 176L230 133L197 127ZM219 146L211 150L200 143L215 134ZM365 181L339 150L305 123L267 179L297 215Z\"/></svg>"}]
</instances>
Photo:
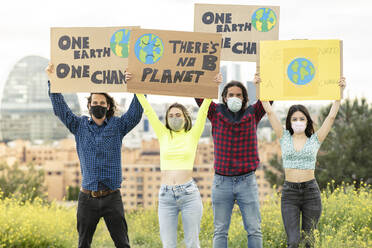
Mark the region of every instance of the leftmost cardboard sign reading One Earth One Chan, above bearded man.
<instances>
[{"instance_id":1,"label":"leftmost cardboard sign reading One Earth One Chan, above bearded man","mask_svg":"<svg viewBox=\"0 0 372 248\"><path fill-rule=\"evenodd\" d=\"M51 92L127 91L124 71L135 28L51 28Z\"/></svg>"}]
</instances>

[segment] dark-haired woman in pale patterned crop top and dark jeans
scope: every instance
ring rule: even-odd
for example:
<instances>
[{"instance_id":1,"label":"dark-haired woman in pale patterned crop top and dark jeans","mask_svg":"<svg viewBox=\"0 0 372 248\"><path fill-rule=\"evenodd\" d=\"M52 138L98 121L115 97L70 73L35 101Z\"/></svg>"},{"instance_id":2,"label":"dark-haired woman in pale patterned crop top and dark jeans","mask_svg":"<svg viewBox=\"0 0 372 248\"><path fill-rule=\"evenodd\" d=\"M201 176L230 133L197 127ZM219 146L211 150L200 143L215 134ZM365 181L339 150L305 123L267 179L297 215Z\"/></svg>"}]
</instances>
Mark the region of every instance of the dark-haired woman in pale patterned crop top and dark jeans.
<instances>
[{"instance_id":1,"label":"dark-haired woman in pale patterned crop top and dark jeans","mask_svg":"<svg viewBox=\"0 0 372 248\"><path fill-rule=\"evenodd\" d=\"M255 81L261 81L259 75L256 75ZM342 77L339 81L341 96L345 85L345 78ZM297 248L300 240L304 238L305 247L310 247L312 230L317 227L322 212L320 190L314 176L316 155L331 130L340 107L340 100L333 103L317 132L314 132L313 121L303 105L293 105L289 108L285 129L269 102L263 101L262 105L276 136L280 139L285 171L281 211L287 233L287 247ZM301 230L304 232L303 237Z\"/></svg>"}]
</instances>

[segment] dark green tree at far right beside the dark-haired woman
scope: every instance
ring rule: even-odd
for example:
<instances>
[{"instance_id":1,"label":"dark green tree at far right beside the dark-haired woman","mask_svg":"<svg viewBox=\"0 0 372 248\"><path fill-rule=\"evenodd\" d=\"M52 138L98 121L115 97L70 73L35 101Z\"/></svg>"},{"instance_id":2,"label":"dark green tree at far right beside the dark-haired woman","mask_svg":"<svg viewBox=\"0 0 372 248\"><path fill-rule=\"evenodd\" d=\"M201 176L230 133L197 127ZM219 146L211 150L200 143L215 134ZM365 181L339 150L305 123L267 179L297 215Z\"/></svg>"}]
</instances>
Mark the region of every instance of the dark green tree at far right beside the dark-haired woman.
<instances>
[{"instance_id":1,"label":"dark green tree at far right beside the dark-haired woman","mask_svg":"<svg viewBox=\"0 0 372 248\"><path fill-rule=\"evenodd\" d=\"M319 116L323 123L331 105ZM316 177L321 188L331 180L372 183L372 107L366 99L346 99L337 114L331 132L320 147Z\"/></svg>"}]
</instances>

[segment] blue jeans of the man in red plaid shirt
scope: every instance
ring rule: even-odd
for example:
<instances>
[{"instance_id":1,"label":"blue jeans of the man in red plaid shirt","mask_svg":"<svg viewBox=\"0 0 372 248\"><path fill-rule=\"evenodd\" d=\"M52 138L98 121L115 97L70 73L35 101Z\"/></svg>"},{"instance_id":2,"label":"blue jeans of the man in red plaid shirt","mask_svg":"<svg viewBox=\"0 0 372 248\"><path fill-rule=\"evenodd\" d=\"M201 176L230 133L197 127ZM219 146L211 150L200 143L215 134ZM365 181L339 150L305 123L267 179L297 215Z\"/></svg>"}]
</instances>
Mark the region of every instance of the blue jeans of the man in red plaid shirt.
<instances>
[{"instance_id":1,"label":"blue jeans of the man in red plaid shirt","mask_svg":"<svg viewBox=\"0 0 372 248\"><path fill-rule=\"evenodd\" d=\"M249 248L262 247L261 214L254 172L242 176L214 175L212 205L214 216L214 248L226 248L231 214L235 202L240 208Z\"/></svg>"}]
</instances>

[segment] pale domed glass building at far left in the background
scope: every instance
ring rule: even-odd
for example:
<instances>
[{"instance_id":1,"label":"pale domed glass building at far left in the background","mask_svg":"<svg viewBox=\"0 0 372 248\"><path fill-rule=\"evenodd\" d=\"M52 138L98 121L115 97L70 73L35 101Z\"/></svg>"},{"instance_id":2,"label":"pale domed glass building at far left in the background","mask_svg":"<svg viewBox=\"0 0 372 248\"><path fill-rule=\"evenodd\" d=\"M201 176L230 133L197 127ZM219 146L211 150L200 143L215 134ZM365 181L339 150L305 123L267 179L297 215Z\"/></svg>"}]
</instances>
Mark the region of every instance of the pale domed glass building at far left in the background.
<instances>
[{"instance_id":1,"label":"pale domed glass building at far left in the background","mask_svg":"<svg viewBox=\"0 0 372 248\"><path fill-rule=\"evenodd\" d=\"M12 68L0 98L0 140L56 140L70 136L53 114L48 96L46 58L27 56ZM75 114L80 114L77 94L65 94Z\"/></svg>"}]
</instances>

